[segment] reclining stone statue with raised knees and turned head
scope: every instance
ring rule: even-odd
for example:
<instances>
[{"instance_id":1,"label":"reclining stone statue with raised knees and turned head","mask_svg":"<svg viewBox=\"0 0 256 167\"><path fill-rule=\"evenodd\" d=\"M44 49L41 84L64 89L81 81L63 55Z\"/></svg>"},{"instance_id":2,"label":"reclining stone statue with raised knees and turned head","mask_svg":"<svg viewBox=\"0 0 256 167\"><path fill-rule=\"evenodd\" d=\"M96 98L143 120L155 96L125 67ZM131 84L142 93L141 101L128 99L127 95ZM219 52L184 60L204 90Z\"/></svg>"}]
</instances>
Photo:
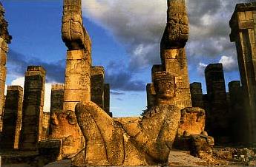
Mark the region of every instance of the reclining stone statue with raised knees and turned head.
<instances>
[{"instance_id":1,"label":"reclining stone statue with raised knees and turned head","mask_svg":"<svg viewBox=\"0 0 256 167\"><path fill-rule=\"evenodd\" d=\"M74 166L146 166L167 163L180 122L180 109L169 101L175 97L175 77L154 73L157 105L135 120L114 119L95 103L76 105L76 118L85 137Z\"/></svg>"}]
</instances>

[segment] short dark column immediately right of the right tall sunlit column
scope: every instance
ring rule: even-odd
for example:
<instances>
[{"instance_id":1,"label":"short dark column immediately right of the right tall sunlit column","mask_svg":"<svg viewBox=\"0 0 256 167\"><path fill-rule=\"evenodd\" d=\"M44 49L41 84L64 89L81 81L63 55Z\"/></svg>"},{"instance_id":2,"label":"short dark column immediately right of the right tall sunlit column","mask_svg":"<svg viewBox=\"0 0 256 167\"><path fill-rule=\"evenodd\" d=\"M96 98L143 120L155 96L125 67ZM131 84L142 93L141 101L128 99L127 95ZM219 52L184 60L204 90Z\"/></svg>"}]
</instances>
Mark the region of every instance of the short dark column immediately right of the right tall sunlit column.
<instances>
[{"instance_id":1,"label":"short dark column immediately right of the right tall sunlit column","mask_svg":"<svg viewBox=\"0 0 256 167\"><path fill-rule=\"evenodd\" d=\"M203 106L203 91L200 82L190 83L191 102L193 107L204 108Z\"/></svg>"}]
</instances>

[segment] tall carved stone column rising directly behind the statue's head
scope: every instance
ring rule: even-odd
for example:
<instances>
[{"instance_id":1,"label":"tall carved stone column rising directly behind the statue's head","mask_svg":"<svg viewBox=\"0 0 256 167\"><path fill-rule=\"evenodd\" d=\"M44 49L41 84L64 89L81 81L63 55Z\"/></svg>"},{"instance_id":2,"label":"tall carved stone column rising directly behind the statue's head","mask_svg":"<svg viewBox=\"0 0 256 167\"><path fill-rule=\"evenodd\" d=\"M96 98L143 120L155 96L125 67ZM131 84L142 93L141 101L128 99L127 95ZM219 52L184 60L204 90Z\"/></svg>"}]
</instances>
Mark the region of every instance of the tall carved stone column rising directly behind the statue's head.
<instances>
[{"instance_id":1,"label":"tall carved stone column rising directly behind the statue's head","mask_svg":"<svg viewBox=\"0 0 256 167\"><path fill-rule=\"evenodd\" d=\"M176 76L175 105L180 109L191 106L188 65L185 45L188 41L188 16L185 0L168 0L167 24L160 44L163 71Z\"/></svg>"}]
</instances>

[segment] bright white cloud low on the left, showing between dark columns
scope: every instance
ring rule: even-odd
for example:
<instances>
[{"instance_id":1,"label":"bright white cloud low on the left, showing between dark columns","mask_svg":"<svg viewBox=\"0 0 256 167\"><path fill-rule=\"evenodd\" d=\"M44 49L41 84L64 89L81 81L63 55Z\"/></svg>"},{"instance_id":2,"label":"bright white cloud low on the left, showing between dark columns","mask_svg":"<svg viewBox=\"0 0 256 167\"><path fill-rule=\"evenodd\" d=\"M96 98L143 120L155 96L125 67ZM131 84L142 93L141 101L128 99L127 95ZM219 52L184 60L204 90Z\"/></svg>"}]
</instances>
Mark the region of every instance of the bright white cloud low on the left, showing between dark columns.
<instances>
[{"instance_id":1,"label":"bright white cloud low on the left, showing between dark columns","mask_svg":"<svg viewBox=\"0 0 256 167\"><path fill-rule=\"evenodd\" d=\"M45 83L44 112L50 112L50 93L52 84L53 83ZM24 77L16 78L11 82L11 85L19 85L24 88Z\"/></svg>"}]
</instances>

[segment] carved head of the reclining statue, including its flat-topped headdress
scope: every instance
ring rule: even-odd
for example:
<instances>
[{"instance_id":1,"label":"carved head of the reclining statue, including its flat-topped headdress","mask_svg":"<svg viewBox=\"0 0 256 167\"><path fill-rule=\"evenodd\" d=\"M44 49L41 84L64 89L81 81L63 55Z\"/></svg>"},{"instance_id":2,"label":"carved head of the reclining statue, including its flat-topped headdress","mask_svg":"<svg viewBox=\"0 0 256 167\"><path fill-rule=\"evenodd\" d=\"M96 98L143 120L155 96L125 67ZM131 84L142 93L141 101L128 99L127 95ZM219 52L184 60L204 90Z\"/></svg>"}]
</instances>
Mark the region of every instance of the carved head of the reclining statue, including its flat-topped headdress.
<instances>
[{"instance_id":1,"label":"carved head of the reclining statue, including its flat-topped headdress","mask_svg":"<svg viewBox=\"0 0 256 167\"><path fill-rule=\"evenodd\" d=\"M175 97L175 76L169 72L155 72L153 75L154 95L157 102L167 102Z\"/></svg>"}]
</instances>

